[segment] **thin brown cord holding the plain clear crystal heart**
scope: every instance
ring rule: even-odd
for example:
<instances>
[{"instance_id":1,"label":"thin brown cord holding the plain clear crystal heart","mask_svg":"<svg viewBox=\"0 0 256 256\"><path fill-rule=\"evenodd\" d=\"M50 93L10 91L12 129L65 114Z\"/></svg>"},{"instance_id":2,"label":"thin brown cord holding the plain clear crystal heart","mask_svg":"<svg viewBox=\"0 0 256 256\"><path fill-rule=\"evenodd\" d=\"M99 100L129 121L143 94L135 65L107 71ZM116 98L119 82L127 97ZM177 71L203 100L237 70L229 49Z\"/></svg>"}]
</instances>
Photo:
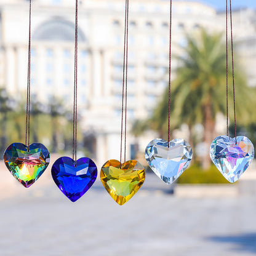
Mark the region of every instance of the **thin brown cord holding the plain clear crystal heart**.
<instances>
[{"instance_id":1,"label":"thin brown cord holding the plain clear crystal heart","mask_svg":"<svg viewBox=\"0 0 256 256\"><path fill-rule=\"evenodd\" d=\"M170 73L172 71L172 0L170 0L170 42L169 42L169 100L168 100L168 148L170 144L170 84L171 77Z\"/></svg>"}]
</instances>

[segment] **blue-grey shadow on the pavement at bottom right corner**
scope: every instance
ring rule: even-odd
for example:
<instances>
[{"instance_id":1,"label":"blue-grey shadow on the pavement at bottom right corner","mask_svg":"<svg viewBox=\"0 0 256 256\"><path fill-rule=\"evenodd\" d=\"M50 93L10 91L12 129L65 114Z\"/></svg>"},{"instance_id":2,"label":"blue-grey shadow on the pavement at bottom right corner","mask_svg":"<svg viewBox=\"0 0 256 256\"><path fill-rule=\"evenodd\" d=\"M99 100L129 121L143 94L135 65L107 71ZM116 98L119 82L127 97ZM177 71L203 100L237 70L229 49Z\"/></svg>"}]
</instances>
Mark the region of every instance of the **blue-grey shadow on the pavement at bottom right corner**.
<instances>
[{"instance_id":1,"label":"blue-grey shadow on the pavement at bottom right corner","mask_svg":"<svg viewBox=\"0 0 256 256\"><path fill-rule=\"evenodd\" d=\"M214 242L233 244L233 250L246 251L256 255L256 233L238 234L234 236L212 236Z\"/></svg>"}]
</instances>

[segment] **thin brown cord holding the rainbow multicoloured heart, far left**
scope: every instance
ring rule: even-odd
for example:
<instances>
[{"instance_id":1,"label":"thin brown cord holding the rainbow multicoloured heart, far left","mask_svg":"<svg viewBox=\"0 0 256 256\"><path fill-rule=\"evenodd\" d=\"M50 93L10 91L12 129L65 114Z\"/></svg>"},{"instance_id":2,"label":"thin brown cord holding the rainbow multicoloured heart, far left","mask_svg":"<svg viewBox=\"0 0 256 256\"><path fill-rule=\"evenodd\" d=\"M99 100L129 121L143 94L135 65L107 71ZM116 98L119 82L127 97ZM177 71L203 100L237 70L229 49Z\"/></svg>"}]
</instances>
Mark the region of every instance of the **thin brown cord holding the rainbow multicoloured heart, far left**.
<instances>
[{"instance_id":1,"label":"thin brown cord holding the rainbow multicoloured heart, far left","mask_svg":"<svg viewBox=\"0 0 256 256\"><path fill-rule=\"evenodd\" d=\"M28 84L26 87L26 138L25 145L28 146L30 151L30 71L31 71L31 0L30 0L30 25L28 31Z\"/></svg>"}]
</instances>

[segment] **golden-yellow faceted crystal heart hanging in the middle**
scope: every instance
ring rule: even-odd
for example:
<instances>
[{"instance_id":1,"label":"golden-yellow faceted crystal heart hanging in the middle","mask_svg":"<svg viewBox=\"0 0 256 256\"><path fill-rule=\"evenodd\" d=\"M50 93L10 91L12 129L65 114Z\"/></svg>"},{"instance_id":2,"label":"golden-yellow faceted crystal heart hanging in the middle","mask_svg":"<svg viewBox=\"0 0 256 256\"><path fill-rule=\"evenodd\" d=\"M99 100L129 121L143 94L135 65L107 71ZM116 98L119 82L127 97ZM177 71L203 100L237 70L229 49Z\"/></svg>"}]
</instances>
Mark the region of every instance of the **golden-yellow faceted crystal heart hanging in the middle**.
<instances>
[{"instance_id":1,"label":"golden-yellow faceted crystal heart hanging in the middle","mask_svg":"<svg viewBox=\"0 0 256 256\"><path fill-rule=\"evenodd\" d=\"M111 198L122 206L142 186L145 170L135 160L124 162L121 166L118 160L109 160L102 166L100 180Z\"/></svg>"}]
</instances>

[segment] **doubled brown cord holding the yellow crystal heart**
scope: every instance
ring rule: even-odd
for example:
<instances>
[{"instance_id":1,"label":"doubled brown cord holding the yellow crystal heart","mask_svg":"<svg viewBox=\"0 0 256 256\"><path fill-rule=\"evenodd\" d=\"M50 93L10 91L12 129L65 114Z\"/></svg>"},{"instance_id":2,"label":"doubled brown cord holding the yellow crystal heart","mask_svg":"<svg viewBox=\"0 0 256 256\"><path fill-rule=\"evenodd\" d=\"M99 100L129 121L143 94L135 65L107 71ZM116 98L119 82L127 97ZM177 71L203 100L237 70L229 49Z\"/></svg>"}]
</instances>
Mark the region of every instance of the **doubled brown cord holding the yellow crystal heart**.
<instances>
[{"instance_id":1,"label":"doubled brown cord holding the yellow crystal heart","mask_svg":"<svg viewBox=\"0 0 256 256\"><path fill-rule=\"evenodd\" d=\"M126 0L126 13L124 18L124 63L122 70L122 118L121 118L121 146L120 167L122 163L122 138L124 123L124 162L126 162L126 137L127 137L127 74L128 74L128 26L129 26L129 0ZM125 103L124 103L125 101Z\"/></svg>"}]
</instances>

